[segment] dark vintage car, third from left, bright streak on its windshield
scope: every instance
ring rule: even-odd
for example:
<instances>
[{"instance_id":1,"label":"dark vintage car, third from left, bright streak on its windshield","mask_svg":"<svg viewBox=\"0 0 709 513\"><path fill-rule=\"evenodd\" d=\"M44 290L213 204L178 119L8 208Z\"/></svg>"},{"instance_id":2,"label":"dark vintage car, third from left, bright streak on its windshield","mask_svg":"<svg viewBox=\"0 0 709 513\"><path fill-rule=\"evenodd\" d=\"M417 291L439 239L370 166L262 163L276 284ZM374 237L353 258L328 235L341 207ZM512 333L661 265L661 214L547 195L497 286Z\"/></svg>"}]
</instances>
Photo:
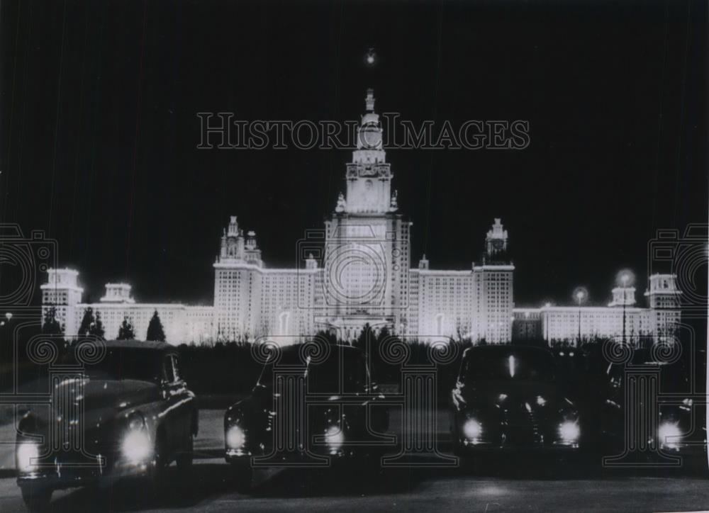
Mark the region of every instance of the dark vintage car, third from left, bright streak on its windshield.
<instances>
[{"instance_id":1,"label":"dark vintage car, third from left, bright streak on its windshield","mask_svg":"<svg viewBox=\"0 0 709 513\"><path fill-rule=\"evenodd\" d=\"M474 346L452 390L454 453L500 450L576 451L581 427L564 397L554 357L531 346Z\"/></svg>"}]
</instances>

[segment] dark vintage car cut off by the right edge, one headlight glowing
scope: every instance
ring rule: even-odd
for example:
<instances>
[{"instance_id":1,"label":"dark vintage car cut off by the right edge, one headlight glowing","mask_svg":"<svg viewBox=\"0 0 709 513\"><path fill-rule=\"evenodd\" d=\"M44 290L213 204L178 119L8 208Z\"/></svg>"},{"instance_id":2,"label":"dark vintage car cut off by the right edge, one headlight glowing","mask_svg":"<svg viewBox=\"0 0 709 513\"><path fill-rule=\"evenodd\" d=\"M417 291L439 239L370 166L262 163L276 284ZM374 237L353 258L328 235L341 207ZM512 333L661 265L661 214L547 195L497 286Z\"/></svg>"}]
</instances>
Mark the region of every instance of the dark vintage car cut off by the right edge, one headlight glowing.
<instances>
[{"instance_id":1,"label":"dark vintage car cut off by the right edge, one headlight glowing","mask_svg":"<svg viewBox=\"0 0 709 513\"><path fill-rule=\"evenodd\" d=\"M600 410L606 453L610 450L632 458L635 452L636 459L656 463L668 462L666 456L683 456L688 458L685 463L698 463L705 468L705 356L696 354L694 357L700 361L694 363L684 357L667 361L662 352L671 350L670 346L658 347L657 351L636 349L627 364L608 365L607 394ZM627 390L629 386L635 390ZM654 399L652 394L657 394ZM629 409L627 401L635 404ZM654 413L657 417L654 422L635 422L627 415L630 412L644 418Z\"/></svg>"}]
</instances>

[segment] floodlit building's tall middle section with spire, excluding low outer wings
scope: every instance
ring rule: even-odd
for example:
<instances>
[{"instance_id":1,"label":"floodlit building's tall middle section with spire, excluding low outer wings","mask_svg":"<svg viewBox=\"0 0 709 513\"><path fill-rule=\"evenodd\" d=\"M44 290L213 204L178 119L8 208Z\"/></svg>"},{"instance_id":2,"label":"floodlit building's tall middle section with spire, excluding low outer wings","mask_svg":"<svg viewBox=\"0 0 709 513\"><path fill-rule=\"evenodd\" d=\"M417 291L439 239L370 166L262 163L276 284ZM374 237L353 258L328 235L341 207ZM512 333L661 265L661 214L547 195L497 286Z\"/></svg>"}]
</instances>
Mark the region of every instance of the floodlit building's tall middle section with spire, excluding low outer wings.
<instances>
[{"instance_id":1,"label":"floodlit building's tall middle section with spire, excluding low outer wings","mask_svg":"<svg viewBox=\"0 0 709 513\"><path fill-rule=\"evenodd\" d=\"M481 264L436 270L423 257L412 269L412 223L398 209L371 89L365 108L345 167L345 193L324 230L301 241L293 269L266 266L255 232L245 235L230 218L214 263L216 337L326 330L354 339L369 325L410 339L509 342L514 266L501 220L487 235Z\"/></svg>"}]
</instances>

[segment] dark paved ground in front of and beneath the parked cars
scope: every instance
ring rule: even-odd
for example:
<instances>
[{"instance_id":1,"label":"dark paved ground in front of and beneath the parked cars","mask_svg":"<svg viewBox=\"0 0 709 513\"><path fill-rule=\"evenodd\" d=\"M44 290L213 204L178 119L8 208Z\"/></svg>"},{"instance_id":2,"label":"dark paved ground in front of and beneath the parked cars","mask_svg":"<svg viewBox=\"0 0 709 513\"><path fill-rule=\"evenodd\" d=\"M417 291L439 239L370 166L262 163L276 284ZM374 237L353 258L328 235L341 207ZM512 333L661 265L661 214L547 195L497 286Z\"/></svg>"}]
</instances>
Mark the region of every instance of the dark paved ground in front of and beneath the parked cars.
<instances>
[{"instance_id":1,"label":"dark paved ground in front of and beneath the parked cars","mask_svg":"<svg viewBox=\"0 0 709 513\"><path fill-rule=\"evenodd\" d=\"M478 468L340 468L267 470L248 494L235 491L223 444L221 411L201 412L199 460L191 486L177 486L159 504L135 485L55 492L53 512L78 511L358 511L464 510L472 512L650 512L709 509L709 479L687 471L662 474L601 472L590 461L574 467L529 460L489 462ZM445 421L440 421L445 425ZM2 432L0 432L0 436ZM2 439L2 438L0 438ZM573 472L571 471L573 469ZM2 478L4 477L4 478ZM24 511L18 487L0 473L0 511Z\"/></svg>"}]
</instances>

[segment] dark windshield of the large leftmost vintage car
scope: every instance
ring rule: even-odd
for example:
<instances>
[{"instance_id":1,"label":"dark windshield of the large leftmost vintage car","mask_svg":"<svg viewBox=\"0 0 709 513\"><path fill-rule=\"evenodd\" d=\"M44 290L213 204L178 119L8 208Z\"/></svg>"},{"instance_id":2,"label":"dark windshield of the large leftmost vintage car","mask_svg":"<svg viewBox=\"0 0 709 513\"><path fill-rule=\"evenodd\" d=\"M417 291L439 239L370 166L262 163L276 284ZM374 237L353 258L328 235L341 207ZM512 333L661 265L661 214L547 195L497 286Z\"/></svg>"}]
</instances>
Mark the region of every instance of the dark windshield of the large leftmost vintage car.
<instances>
[{"instance_id":1,"label":"dark windshield of the large leftmost vintage car","mask_svg":"<svg viewBox=\"0 0 709 513\"><path fill-rule=\"evenodd\" d=\"M109 347L104 358L86 365L85 371L91 379L155 381L160 370L158 362L158 354L151 349Z\"/></svg>"}]
</instances>

